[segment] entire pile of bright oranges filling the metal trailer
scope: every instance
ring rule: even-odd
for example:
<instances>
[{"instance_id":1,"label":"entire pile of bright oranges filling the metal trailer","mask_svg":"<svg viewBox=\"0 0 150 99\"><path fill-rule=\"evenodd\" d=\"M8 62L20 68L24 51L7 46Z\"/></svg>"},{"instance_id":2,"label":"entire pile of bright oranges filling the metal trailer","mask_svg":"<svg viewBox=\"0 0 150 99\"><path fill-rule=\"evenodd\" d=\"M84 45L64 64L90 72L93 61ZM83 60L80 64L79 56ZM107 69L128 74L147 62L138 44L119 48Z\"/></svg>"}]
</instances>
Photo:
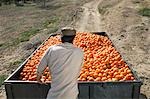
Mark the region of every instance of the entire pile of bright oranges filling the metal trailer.
<instances>
[{"instance_id":1,"label":"entire pile of bright oranges filling the metal trailer","mask_svg":"<svg viewBox=\"0 0 150 99\"><path fill-rule=\"evenodd\" d=\"M25 64L20 79L35 81L37 66L41 57L49 46L59 43L61 43L59 36L50 37ZM74 45L84 51L84 64L78 78L79 81L127 81L135 79L108 37L91 33L77 33ZM51 80L48 68L45 69L41 80Z\"/></svg>"}]
</instances>

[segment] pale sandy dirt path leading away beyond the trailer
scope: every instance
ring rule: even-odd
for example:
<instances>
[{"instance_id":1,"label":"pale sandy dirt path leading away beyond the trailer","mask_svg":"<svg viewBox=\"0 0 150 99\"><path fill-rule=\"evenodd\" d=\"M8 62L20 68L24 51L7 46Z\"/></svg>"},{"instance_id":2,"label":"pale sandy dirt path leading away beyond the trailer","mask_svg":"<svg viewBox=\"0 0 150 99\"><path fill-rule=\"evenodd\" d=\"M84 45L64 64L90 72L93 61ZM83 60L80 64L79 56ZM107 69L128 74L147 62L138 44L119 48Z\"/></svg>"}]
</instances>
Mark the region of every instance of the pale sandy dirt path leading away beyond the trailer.
<instances>
[{"instance_id":1,"label":"pale sandy dirt path leading away beyond the trailer","mask_svg":"<svg viewBox=\"0 0 150 99\"><path fill-rule=\"evenodd\" d=\"M80 31L102 31L98 4L102 0L93 0L83 5L83 13L80 19L76 22L75 28Z\"/></svg>"}]
</instances>

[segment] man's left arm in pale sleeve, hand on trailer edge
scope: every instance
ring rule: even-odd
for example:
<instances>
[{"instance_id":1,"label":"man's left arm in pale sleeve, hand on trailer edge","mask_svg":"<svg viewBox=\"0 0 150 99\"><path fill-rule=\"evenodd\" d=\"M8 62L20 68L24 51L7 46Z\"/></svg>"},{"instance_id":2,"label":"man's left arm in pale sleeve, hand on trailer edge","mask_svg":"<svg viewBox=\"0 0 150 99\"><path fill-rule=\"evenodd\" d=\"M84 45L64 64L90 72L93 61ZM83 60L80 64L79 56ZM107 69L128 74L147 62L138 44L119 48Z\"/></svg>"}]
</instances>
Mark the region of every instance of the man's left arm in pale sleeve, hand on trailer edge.
<instances>
[{"instance_id":1,"label":"man's left arm in pale sleeve, hand on trailer edge","mask_svg":"<svg viewBox=\"0 0 150 99\"><path fill-rule=\"evenodd\" d=\"M38 81L39 83L42 83L42 81L41 81L41 76L42 76L42 74L43 74L43 71L45 70L45 68L46 68L47 65L48 65L48 54L49 54L49 50L50 50L50 49L48 49L48 50L45 52L45 54L43 55L43 57L42 57L42 59L41 59L39 65L38 65L38 67L37 67L37 81Z\"/></svg>"}]
</instances>

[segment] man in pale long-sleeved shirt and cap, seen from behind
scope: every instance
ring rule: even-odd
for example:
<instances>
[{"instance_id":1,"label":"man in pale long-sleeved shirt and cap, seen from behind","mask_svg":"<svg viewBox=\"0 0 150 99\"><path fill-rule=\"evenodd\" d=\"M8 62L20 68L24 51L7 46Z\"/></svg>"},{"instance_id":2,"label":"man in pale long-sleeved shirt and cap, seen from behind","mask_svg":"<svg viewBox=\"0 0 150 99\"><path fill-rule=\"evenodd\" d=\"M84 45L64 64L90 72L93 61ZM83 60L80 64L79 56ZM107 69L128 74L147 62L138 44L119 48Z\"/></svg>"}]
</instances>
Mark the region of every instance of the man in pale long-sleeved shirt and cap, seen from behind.
<instances>
[{"instance_id":1,"label":"man in pale long-sleeved shirt and cap, seen from behind","mask_svg":"<svg viewBox=\"0 0 150 99\"><path fill-rule=\"evenodd\" d=\"M72 44L75 29L66 27L61 31L62 44L51 46L46 51L38 66L37 81L41 83L43 70L48 66L52 82L47 99L77 99L77 78L83 63L83 51Z\"/></svg>"}]
</instances>

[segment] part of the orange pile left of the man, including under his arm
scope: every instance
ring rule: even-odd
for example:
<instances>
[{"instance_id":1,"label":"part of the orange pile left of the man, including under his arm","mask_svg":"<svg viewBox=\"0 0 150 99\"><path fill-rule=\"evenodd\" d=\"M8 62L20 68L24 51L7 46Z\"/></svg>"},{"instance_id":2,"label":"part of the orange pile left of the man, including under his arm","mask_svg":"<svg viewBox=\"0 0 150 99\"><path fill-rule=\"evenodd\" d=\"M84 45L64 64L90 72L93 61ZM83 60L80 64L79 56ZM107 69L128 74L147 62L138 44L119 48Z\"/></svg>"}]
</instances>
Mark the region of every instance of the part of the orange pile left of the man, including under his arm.
<instances>
[{"instance_id":1,"label":"part of the orange pile left of the man, including under his arm","mask_svg":"<svg viewBox=\"0 0 150 99\"><path fill-rule=\"evenodd\" d=\"M49 46L59 44L60 39L59 36L52 36L50 37L40 48L33 54L33 56L27 61L25 64L22 72L20 73L20 79L21 80L29 80L29 81L36 81L37 77L37 66L40 63L40 60L43 56L43 54L46 52L46 50L49 48ZM48 67L45 69L44 74L41 78L42 81L50 81L51 76L48 70Z\"/></svg>"}]
</instances>

